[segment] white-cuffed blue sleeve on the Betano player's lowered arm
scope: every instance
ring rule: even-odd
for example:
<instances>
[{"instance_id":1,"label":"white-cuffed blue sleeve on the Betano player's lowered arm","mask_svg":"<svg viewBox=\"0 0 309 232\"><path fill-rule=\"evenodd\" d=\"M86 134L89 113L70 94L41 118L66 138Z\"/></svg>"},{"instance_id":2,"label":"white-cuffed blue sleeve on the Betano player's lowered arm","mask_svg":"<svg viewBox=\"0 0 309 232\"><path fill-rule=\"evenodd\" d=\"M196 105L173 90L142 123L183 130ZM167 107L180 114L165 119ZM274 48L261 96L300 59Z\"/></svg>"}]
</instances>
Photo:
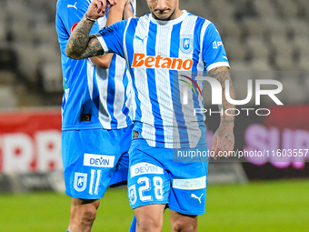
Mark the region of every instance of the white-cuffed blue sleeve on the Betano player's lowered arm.
<instances>
[{"instance_id":1,"label":"white-cuffed blue sleeve on the Betano player's lowered arm","mask_svg":"<svg viewBox=\"0 0 309 232\"><path fill-rule=\"evenodd\" d=\"M207 26L204 33L203 59L207 72L218 66L229 67L221 36L213 23Z\"/></svg>"}]
</instances>

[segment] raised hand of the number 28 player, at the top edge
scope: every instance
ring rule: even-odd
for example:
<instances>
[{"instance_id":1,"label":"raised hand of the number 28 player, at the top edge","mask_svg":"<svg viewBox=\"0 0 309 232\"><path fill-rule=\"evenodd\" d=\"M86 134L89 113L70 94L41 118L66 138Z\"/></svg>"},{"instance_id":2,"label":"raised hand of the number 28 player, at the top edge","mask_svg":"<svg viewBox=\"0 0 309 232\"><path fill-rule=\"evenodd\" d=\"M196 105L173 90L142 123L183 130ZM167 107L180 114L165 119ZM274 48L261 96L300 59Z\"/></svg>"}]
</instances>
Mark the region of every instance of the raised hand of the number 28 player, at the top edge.
<instances>
[{"instance_id":1,"label":"raised hand of the number 28 player, at the top edge","mask_svg":"<svg viewBox=\"0 0 309 232\"><path fill-rule=\"evenodd\" d=\"M115 5L116 2L117 0L93 0L86 14L92 19L98 19L106 14L107 5Z\"/></svg>"}]
</instances>

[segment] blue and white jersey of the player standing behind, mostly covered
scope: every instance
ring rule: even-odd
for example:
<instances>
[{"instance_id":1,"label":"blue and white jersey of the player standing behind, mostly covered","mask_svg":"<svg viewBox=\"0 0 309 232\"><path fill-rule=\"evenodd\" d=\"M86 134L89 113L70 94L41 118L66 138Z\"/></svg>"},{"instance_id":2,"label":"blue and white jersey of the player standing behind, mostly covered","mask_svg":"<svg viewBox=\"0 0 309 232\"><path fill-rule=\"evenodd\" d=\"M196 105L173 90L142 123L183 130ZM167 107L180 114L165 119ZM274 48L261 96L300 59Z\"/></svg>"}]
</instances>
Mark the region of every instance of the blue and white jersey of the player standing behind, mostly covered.
<instances>
[{"instance_id":1,"label":"blue and white jersey of the player standing behind, mostly covered","mask_svg":"<svg viewBox=\"0 0 309 232\"><path fill-rule=\"evenodd\" d=\"M65 45L90 3L90 0L58 0L56 5L55 26L65 89L63 130L119 129L132 124L132 87L125 59L114 55L109 69L102 69L90 58L74 60L65 55ZM135 9L135 0L132 5ZM97 33L105 22L105 17L98 20L91 33Z\"/></svg>"}]
</instances>

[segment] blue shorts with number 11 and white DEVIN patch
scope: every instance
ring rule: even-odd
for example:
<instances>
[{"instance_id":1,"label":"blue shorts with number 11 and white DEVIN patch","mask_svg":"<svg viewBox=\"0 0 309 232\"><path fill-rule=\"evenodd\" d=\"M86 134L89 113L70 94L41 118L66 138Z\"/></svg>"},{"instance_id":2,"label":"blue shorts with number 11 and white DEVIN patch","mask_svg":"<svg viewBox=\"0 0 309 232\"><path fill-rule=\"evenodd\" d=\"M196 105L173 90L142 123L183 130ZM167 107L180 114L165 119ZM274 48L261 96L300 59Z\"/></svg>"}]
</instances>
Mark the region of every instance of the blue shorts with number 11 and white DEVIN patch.
<instances>
[{"instance_id":1,"label":"blue shorts with number 11 and white DEVIN patch","mask_svg":"<svg viewBox=\"0 0 309 232\"><path fill-rule=\"evenodd\" d=\"M62 157L68 196L99 199L107 187L127 179L132 127L63 131Z\"/></svg>"}]
</instances>

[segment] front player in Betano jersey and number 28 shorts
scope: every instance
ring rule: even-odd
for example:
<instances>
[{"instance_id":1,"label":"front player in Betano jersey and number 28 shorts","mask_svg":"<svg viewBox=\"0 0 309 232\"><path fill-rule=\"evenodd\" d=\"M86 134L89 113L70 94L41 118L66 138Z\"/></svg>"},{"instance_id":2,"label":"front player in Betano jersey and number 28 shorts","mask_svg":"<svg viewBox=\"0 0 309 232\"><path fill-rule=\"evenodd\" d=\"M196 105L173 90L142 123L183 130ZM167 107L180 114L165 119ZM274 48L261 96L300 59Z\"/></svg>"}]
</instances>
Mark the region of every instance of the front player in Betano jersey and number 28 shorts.
<instances>
[{"instance_id":1,"label":"front player in Betano jersey and number 28 shorts","mask_svg":"<svg viewBox=\"0 0 309 232\"><path fill-rule=\"evenodd\" d=\"M229 88L234 97L229 63L210 21L181 11L179 0L146 1L150 15L129 18L89 36L92 20L105 15L105 0L94 0L70 36L66 55L82 59L114 52L128 64L134 88L128 196L136 231L161 231L165 207L170 209L172 231L196 231L197 217L204 214L208 163L173 162L173 156L179 149L207 150L204 116L187 114L190 107L193 112L194 106L204 106L203 97L194 95L196 88L203 91L204 83L190 77L193 71L207 72L223 86L222 112L231 111L221 116L212 150L215 156L233 150L234 106L224 95ZM177 90L189 83L180 81L181 71L196 84L188 93L192 104L180 104Z\"/></svg>"}]
</instances>

